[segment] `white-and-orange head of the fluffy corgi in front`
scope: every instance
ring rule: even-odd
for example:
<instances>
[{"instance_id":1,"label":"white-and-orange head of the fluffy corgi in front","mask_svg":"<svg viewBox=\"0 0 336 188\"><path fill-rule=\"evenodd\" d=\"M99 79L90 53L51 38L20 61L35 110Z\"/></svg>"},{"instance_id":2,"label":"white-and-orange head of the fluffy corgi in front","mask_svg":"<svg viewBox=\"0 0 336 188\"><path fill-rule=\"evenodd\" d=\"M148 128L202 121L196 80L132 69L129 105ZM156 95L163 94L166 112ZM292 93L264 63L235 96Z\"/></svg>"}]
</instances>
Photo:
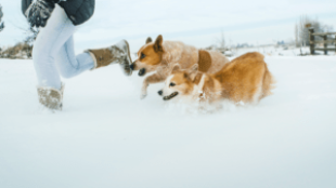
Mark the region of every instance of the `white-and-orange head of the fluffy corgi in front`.
<instances>
[{"instance_id":1,"label":"white-and-orange head of the fluffy corgi in front","mask_svg":"<svg viewBox=\"0 0 336 188\"><path fill-rule=\"evenodd\" d=\"M165 81L165 88L158 91L158 94L164 97L164 100L190 95L194 90L194 78L197 70L197 64L189 70L182 70L179 64L175 65L171 75Z\"/></svg>"}]
</instances>

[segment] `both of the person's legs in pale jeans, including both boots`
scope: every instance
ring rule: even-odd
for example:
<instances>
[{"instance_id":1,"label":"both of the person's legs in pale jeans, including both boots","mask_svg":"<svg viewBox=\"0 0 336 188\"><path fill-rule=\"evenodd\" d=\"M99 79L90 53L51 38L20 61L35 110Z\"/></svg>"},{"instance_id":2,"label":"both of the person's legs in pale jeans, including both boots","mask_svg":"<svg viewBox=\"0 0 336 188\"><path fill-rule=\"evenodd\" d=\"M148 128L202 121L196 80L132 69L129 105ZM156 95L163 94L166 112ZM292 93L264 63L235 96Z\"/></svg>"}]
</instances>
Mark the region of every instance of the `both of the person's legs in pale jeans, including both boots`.
<instances>
[{"instance_id":1,"label":"both of the person's legs in pale jeans, including both boots","mask_svg":"<svg viewBox=\"0 0 336 188\"><path fill-rule=\"evenodd\" d=\"M62 109L63 85L59 69L64 77L70 78L88 69L120 64L126 75L132 73L127 41L122 40L105 49L89 50L75 56L75 30L76 27L64 10L56 6L34 44L33 59L39 82L39 102L51 109Z\"/></svg>"}]
</instances>

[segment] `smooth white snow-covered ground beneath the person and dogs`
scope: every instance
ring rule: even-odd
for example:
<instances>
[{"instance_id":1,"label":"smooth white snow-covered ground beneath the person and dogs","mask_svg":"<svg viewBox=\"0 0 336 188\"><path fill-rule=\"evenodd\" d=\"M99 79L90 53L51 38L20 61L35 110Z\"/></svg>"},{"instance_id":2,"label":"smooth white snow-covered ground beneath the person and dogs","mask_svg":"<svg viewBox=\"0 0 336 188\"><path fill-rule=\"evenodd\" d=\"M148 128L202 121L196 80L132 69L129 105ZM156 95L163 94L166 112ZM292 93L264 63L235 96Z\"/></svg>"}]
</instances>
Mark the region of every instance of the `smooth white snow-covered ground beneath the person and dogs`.
<instances>
[{"instance_id":1,"label":"smooth white snow-covered ground beneath the person and dogs","mask_svg":"<svg viewBox=\"0 0 336 188\"><path fill-rule=\"evenodd\" d=\"M0 59L1 188L334 188L336 56L267 56L277 80L257 106L171 111L109 66L64 80L38 106L31 61Z\"/></svg>"}]
</instances>

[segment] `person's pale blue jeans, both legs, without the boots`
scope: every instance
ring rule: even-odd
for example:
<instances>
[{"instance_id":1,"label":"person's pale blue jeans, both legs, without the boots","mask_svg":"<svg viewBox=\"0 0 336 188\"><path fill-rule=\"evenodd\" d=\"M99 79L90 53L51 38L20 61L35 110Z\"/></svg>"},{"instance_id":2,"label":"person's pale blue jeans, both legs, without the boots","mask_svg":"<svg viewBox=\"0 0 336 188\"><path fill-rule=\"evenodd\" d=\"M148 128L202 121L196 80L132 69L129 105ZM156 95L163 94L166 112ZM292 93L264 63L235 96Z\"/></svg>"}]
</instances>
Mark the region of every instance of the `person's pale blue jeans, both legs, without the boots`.
<instances>
[{"instance_id":1,"label":"person's pale blue jeans, both legs, without the boots","mask_svg":"<svg viewBox=\"0 0 336 188\"><path fill-rule=\"evenodd\" d=\"M47 26L40 29L34 43L33 61L38 86L60 90L60 75L72 78L94 67L94 62L88 53L75 55L75 31L76 27L64 10L56 5Z\"/></svg>"}]
</instances>

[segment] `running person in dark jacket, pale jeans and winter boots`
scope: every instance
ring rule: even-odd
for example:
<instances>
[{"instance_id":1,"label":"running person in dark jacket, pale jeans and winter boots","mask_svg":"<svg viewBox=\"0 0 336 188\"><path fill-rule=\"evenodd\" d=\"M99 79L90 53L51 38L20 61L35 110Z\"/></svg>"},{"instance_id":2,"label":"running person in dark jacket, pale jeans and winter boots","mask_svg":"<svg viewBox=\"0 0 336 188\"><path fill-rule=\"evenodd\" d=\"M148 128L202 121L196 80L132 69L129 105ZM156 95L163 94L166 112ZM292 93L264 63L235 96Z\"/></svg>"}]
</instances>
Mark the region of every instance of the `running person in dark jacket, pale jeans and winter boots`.
<instances>
[{"instance_id":1,"label":"running person in dark jacket, pale jeans and winter boots","mask_svg":"<svg viewBox=\"0 0 336 188\"><path fill-rule=\"evenodd\" d=\"M30 26L40 28L34 43L33 62L39 103L49 109L62 110L64 84L60 75L72 78L111 64L120 64L127 76L132 73L126 40L75 55L73 36L76 26L93 15L94 4L94 0L22 0L22 11Z\"/></svg>"}]
</instances>

